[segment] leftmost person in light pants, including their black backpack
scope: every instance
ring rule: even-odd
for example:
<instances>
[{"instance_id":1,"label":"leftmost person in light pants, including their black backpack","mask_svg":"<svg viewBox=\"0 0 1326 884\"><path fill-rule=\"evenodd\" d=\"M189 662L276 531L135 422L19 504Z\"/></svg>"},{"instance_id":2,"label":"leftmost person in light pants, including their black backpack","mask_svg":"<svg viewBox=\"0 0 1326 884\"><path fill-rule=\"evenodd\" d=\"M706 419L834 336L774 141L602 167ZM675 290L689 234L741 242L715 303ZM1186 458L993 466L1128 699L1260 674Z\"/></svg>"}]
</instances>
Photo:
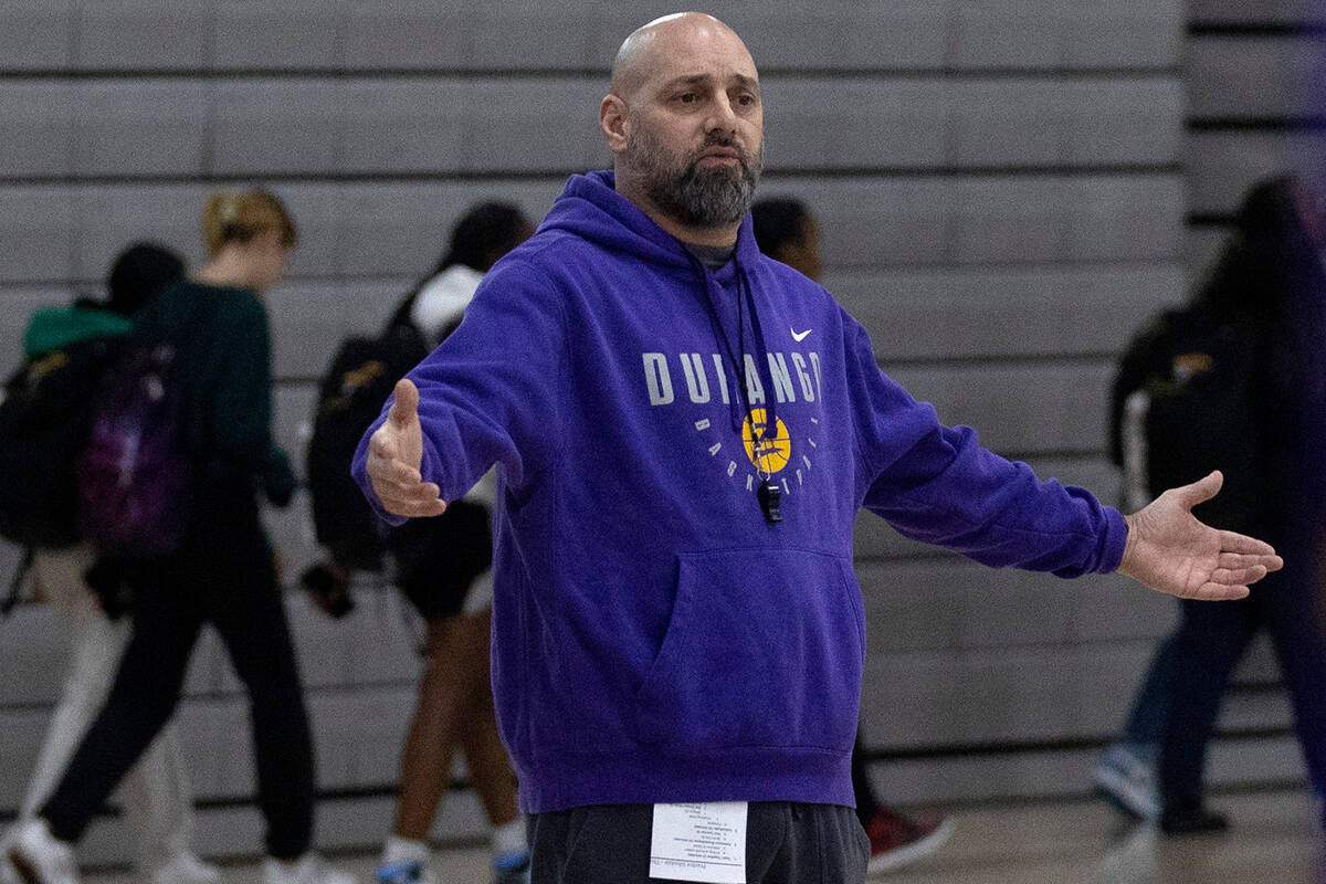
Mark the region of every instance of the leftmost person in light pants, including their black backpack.
<instances>
[{"instance_id":1,"label":"leftmost person in light pants, including their black backpack","mask_svg":"<svg viewBox=\"0 0 1326 884\"><path fill-rule=\"evenodd\" d=\"M32 315L24 334L24 370L9 391L8 408L44 410L52 423L46 428L16 416L4 427L5 482L25 480L24 488L15 489L9 527L12 539L34 547L30 575L36 596L69 622L70 665L19 808L19 823L3 839L0 852L8 851L17 827L33 819L50 797L105 702L129 643L129 622L117 616L122 600L98 598L84 579L93 553L77 537L72 455L86 437L97 378L122 350L134 314L183 272L184 262L174 252L155 244L134 244L111 266L106 301L78 298L68 307L42 307ZM24 436L24 425L34 429ZM19 463L11 457L29 460ZM38 488L38 482L46 485ZM41 497L29 497L24 504L23 493ZM123 795L135 840L135 864L145 880L151 884L219 880L216 867L202 861L191 848L194 798L172 721L126 775ZM12 880L8 859L0 859L0 865L4 877Z\"/></svg>"}]
</instances>

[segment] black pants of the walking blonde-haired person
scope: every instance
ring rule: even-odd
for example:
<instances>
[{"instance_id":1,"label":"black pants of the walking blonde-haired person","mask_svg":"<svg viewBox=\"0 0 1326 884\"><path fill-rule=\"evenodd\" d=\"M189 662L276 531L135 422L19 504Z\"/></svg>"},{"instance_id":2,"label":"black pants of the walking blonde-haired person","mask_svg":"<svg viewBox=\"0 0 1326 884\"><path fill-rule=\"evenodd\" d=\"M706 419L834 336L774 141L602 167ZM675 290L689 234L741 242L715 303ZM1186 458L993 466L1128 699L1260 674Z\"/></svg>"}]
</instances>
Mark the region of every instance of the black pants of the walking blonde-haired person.
<instances>
[{"instance_id":1,"label":"black pants of the walking blonde-haired person","mask_svg":"<svg viewBox=\"0 0 1326 884\"><path fill-rule=\"evenodd\" d=\"M252 492L215 492L184 551L126 570L133 637L106 706L41 810L77 840L175 712L203 623L212 623L248 689L267 850L294 859L313 830L313 749L272 555Z\"/></svg>"}]
</instances>

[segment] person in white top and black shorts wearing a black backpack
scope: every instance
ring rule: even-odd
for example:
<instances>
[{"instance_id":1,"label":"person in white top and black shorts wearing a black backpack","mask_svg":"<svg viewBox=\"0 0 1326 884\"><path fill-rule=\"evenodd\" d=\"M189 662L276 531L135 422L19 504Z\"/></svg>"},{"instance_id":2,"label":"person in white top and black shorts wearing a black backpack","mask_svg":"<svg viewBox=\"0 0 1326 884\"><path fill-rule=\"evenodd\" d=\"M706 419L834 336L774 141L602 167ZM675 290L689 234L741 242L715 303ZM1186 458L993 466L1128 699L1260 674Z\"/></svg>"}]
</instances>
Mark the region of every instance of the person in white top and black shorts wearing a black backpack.
<instances>
[{"instance_id":1,"label":"person in white top and black shorts wearing a black backpack","mask_svg":"<svg viewBox=\"0 0 1326 884\"><path fill-rule=\"evenodd\" d=\"M402 301L386 333L373 341L347 342L322 384L309 444L309 490L329 561L314 573L343 584L350 570L374 567L375 559L389 554L395 584L426 624L419 700L400 753L400 793L394 830L382 851L379 884L435 880L428 871L428 832L451 783L457 749L465 754L492 827L493 880L516 884L529 875L525 820L516 807L514 774L497 733L488 665L493 476L481 478L444 516L379 534L374 525L381 522L350 477L349 464L395 382L447 338L484 274L532 232L514 205L471 207L456 223L446 254ZM391 354L412 357L414 346L422 346L423 353L407 364L392 360ZM369 362L386 366L386 371L365 368ZM353 392L346 394L349 390ZM355 404L361 396L366 399L362 410Z\"/></svg>"}]
</instances>

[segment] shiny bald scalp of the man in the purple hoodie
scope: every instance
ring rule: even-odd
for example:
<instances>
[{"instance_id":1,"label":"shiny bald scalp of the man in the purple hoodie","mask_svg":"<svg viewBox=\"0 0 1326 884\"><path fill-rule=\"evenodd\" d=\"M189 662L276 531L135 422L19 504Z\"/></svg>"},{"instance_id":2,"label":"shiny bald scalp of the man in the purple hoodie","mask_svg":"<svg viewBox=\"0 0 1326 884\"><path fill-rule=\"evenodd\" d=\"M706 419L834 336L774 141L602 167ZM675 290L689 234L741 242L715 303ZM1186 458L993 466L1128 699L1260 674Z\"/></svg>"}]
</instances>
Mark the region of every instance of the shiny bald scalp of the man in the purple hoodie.
<instances>
[{"instance_id":1,"label":"shiny bald scalp of the man in the purple hoodie","mask_svg":"<svg viewBox=\"0 0 1326 884\"><path fill-rule=\"evenodd\" d=\"M756 77L754 60L737 32L704 12L675 12L636 28L613 61L613 93L630 98L651 77L679 61L723 53L736 56Z\"/></svg>"}]
</instances>

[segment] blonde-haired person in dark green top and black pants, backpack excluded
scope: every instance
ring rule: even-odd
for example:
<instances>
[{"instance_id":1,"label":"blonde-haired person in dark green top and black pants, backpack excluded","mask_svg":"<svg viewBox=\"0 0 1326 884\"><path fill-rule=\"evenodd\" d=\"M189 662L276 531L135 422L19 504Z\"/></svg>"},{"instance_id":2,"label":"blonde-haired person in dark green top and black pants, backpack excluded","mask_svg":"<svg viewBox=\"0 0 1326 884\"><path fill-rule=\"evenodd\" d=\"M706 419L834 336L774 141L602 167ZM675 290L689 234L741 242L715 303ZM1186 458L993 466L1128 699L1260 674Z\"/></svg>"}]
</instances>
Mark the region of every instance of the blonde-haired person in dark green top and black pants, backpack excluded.
<instances>
[{"instance_id":1,"label":"blonde-haired person in dark green top and black pants, backpack excluded","mask_svg":"<svg viewBox=\"0 0 1326 884\"><path fill-rule=\"evenodd\" d=\"M179 433L191 478L178 550L98 562L134 592L133 637L110 697L50 799L20 826L9 859L27 884L77 884L73 844L180 696L204 623L220 634L249 697L267 884L353 884L309 852L313 747L259 492L289 504L289 460L272 440L272 370L263 292L285 273L294 221L267 192L219 193L203 211L210 261L142 311L139 346L178 353Z\"/></svg>"}]
</instances>

